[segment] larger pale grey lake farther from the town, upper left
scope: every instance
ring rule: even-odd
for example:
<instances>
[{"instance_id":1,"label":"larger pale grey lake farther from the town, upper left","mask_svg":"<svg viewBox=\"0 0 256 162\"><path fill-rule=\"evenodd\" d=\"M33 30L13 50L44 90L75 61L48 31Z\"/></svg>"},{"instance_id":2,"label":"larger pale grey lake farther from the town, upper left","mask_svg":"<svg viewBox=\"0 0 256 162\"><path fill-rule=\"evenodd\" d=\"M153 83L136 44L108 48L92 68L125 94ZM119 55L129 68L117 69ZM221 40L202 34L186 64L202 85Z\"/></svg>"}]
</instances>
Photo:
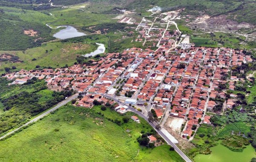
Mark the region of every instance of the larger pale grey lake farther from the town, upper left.
<instances>
[{"instance_id":1,"label":"larger pale grey lake farther from the town, upper left","mask_svg":"<svg viewBox=\"0 0 256 162\"><path fill-rule=\"evenodd\" d=\"M73 26L58 26L58 29L60 27L65 27L66 29L62 29L61 31L57 32L56 34L53 35L53 37L58 38L58 39L67 39L67 38L74 38L74 37L81 37L86 34L82 32L78 32L76 28Z\"/></svg>"}]
</instances>

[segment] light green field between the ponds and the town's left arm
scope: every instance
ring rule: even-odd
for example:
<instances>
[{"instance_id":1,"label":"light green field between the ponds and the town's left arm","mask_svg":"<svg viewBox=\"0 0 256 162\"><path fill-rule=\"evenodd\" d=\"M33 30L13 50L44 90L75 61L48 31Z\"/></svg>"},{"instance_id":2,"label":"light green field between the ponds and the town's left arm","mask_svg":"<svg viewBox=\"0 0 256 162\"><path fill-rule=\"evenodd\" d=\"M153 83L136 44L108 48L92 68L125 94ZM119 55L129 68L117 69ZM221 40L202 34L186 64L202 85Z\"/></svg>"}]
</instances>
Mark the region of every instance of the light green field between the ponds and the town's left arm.
<instances>
[{"instance_id":1,"label":"light green field between the ponds and the town's left arm","mask_svg":"<svg viewBox=\"0 0 256 162\"><path fill-rule=\"evenodd\" d=\"M97 46L83 42L51 42L39 47L27 49L26 51L0 51L0 53L9 53L17 55L21 61L12 63L5 61L0 66L0 73L5 72L5 67L15 66L17 69L35 69L40 67L64 67L72 65L78 55L87 54L97 49ZM35 58L35 61L32 59Z\"/></svg>"}]
</instances>

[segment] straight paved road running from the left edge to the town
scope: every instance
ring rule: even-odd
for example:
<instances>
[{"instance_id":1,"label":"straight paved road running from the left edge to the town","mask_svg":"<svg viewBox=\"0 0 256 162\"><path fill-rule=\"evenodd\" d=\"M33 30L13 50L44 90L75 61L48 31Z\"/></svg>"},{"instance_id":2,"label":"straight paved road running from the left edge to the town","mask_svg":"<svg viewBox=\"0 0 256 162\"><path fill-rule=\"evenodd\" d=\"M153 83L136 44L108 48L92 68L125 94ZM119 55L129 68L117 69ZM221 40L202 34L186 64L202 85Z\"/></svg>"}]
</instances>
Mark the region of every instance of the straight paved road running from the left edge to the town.
<instances>
[{"instance_id":1,"label":"straight paved road running from the left edge to the town","mask_svg":"<svg viewBox=\"0 0 256 162\"><path fill-rule=\"evenodd\" d=\"M41 114L40 116L36 117L35 119L32 119L31 121L29 121L29 122L27 122L26 124L24 124L24 125L18 127L17 129L12 130L12 132L9 132L9 133L7 133L6 135L0 137L0 139L3 139L3 138L5 138L6 136L9 136L9 135L12 134L12 133L15 133L15 132L16 132L17 130L19 130L20 128L22 128L22 127L24 127L24 126L27 126L27 125L29 125L29 124L32 123L32 122L36 122L38 119L43 118L44 116L46 116L47 114L51 113L52 111L58 109L59 107L61 107L61 106L65 105L65 104L67 104L67 103L70 102L71 100L77 98L77 96L78 96L78 94L75 94L75 95L72 95L70 98L67 98L67 99L64 100L64 101L61 101L59 104L57 104L57 105L56 105L55 107L53 107L52 109L50 109L50 110L48 110L47 112Z\"/></svg>"}]
</instances>

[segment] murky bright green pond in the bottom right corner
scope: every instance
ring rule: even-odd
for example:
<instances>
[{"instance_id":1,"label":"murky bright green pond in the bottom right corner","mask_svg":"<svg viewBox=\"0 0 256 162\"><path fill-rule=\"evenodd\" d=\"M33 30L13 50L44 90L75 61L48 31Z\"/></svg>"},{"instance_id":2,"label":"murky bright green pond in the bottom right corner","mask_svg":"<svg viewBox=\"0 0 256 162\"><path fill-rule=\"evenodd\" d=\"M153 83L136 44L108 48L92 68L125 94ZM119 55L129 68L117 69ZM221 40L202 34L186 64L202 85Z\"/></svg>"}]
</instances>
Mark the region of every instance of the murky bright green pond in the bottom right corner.
<instances>
[{"instance_id":1,"label":"murky bright green pond in the bottom right corner","mask_svg":"<svg viewBox=\"0 0 256 162\"><path fill-rule=\"evenodd\" d=\"M195 162L250 162L256 157L254 148L249 145L243 152L233 152L223 145L210 148L209 155L198 154L194 157Z\"/></svg>"}]
</instances>

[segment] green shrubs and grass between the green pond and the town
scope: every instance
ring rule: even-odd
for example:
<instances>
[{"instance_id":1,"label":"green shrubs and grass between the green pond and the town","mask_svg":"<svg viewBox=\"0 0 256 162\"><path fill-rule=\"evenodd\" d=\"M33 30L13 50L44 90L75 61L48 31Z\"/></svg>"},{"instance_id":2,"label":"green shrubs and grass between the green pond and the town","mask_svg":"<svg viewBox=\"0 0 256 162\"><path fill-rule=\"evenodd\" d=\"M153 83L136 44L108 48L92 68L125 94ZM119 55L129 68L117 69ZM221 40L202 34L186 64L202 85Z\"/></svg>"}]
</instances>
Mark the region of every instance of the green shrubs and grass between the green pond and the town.
<instances>
[{"instance_id":1,"label":"green shrubs and grass between the green pond and the town","mask_svg":"<svg viewBox=\"0 0 256 162\"><path fill-rule=\"evenodd\" d=\"M201 124L196 132L192 140L196 148L190 150L191 157L198 153L211 153L209 148L218 145L219 140L221 145L236 152L242 152L250 143L253 146L255 137L252 136L252 129L255 119L246 113L228 110L225 116L214 115L210 120L214 126Z\"/></svg>"}]
</instances>

